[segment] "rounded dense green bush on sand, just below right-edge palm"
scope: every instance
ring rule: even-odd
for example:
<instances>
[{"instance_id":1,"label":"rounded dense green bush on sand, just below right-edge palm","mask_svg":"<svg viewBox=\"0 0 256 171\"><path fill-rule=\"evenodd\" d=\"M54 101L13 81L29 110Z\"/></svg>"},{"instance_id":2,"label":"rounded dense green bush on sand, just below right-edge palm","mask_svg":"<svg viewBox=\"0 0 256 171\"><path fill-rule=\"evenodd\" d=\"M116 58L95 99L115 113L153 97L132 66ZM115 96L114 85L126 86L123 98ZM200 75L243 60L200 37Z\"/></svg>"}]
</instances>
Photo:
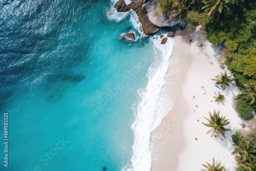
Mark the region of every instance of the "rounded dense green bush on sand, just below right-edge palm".
<instances>
[{"instance_id":1,"label":"rounded dense green bush on sand, just below right-edge palm","mask_svg":"<svg viewBox=\"0 0 256 171\"><path fill-rule=\"evenodd\" d=\"M236 110L242 119L248 120L253 116L252 106L247 101L244 101L243 99L238 100L236 105Z\"/></svg>"}]
</instances>

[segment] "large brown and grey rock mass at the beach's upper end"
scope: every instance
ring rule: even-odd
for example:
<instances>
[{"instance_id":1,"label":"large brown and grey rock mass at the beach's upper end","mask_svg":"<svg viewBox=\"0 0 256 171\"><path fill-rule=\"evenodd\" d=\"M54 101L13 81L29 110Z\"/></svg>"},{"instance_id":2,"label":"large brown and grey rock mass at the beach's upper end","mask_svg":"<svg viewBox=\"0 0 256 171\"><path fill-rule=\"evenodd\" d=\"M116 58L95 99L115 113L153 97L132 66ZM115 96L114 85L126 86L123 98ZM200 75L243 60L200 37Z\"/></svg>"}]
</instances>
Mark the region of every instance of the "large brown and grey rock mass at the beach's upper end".
<instances>
[{"instance_id":1,"label":"large brown and grey rock mass at the beach's upper end","mask_svg":"<svg viewBox=\"0 0 256 171\"><path fill-rule=\"evenodd\" d=\"M118 12L126 12L131 9L138 15L144 34L151 35L159 30L176 31L183 28L186 23L177 22L170 16L162 14L157 8L157 0L134 0L126 5L124 0L115 4Z\"/></svg>"}]
</instances>

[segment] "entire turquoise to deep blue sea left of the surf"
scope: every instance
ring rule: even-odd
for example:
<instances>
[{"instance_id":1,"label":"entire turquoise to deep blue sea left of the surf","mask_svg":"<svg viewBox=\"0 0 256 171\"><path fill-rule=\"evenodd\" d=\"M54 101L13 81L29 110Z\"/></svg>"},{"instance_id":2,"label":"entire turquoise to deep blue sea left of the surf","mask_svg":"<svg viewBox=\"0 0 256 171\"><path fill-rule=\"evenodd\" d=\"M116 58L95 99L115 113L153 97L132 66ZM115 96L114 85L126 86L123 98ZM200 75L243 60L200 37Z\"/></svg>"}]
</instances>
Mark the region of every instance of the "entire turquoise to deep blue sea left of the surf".
<instances>
[{"instance_id":1,"label":"entire turquoise to deep blue sea left of the surf","mask_svg":"<svg viewBox=\"0 0 256 171\"><path fill-rule=\"evenodd\" d=\"M147 83L153 44L118 40L110 1L0 2L0 131L8 167L121 170L131 164L130 109Z\"/></svg>"}]
</instances>

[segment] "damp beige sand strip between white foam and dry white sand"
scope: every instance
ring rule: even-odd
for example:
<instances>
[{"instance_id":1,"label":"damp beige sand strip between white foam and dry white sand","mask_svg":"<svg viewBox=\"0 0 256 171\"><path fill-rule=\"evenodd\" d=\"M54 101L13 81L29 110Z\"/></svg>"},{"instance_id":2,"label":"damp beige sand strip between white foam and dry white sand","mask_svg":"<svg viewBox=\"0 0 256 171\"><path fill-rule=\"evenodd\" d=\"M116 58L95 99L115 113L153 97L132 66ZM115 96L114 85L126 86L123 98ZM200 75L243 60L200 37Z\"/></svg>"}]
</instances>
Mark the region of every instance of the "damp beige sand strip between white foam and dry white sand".
<instances>
[{"instance_id":1,"label":"damp beige sand strip between white foam and dry white sand","mask_svg":"<svg viewBox=\"0 0 256 171\"><path fill-rule=\"evenodd\" d=\"M166 87L168 92L173 92L172 87L169 87L172 84L173 68L175 67L176 74L179 74L180 80L176 86L176 99L172 106L172 109L168 114L162 119L161 124L152 132L152 144L153 144L153 158L152 158L152 170L163 170L162 165L165 165L168 168L173 168L175 163L178 162L178 159L175 158L179 151L182 148L183 139L181 134L175 134L177 131L175 128L178 128L179 124L182 124L182 120L185 116L182 115L172 115L172 113L186 113L186 108L179 108L179 102L184 101L183 96L180 96L182 92L182 87L185 81L185 75L188 71L188 68L191 65L191 55L190 55L190 45L186 42L189 42L190 35L185 31L177 31L173 36L175 45L173 55L170 58L169 69L166 74ZM186 51L181 52L183 48ZM183 102L184 105L186 102ZM175 122L174 122L175 121ZM177 141L179 139L179 142ZM175 147L170 147L165 142L170 142L171 145ZM161 147L159 148L159 143ZM157 154L157 153L161 154Z\"/></svg>"}]
</instances>

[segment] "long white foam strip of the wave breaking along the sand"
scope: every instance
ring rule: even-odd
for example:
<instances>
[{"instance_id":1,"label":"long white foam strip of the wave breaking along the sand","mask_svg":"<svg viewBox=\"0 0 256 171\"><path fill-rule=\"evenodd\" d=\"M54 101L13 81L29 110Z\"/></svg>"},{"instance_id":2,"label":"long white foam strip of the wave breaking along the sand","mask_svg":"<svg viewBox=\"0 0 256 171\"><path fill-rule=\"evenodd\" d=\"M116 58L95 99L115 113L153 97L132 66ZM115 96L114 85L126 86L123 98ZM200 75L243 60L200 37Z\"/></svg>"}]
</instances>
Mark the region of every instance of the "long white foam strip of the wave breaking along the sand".
<instances>
[{"instance_id":1,"label":"long white foam strip of the wave breaking along the sand","mask_svg":"<svg viewBox=\"0 0 256 171\"><path fill-rule=\"evenodd\" d=\"M165 84L165 75L168 70L169 57L172 55L174 42L172 38L168 38L166 44L161 45L159 36L151 38L155 45L155 62L148 69L147 77L148 84L145 90L140 89L138 93L141 97L141 102L134 109L135 122L132 129L135 135L133 145L132 169L126 170L150 170L152 166L151 154L151 132L160 123L161 119L167 114L169 108L164 113L157 112L159 109L159 95ZM166 102L164 104L167 104ZM155 119L158 121L155 121ZM125 169L124 169L125 170Z\"/></svg>"}]
</instances>

